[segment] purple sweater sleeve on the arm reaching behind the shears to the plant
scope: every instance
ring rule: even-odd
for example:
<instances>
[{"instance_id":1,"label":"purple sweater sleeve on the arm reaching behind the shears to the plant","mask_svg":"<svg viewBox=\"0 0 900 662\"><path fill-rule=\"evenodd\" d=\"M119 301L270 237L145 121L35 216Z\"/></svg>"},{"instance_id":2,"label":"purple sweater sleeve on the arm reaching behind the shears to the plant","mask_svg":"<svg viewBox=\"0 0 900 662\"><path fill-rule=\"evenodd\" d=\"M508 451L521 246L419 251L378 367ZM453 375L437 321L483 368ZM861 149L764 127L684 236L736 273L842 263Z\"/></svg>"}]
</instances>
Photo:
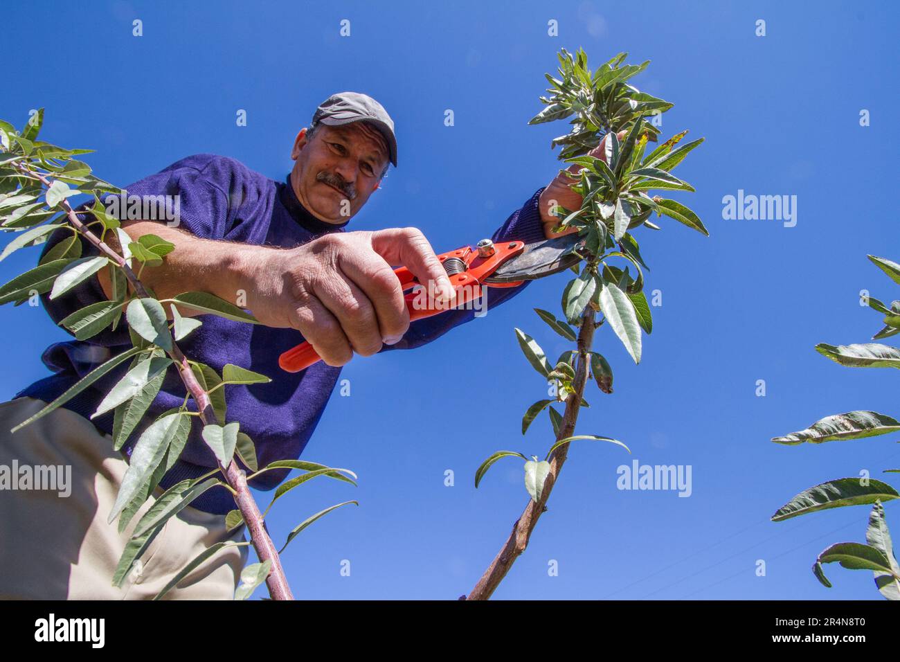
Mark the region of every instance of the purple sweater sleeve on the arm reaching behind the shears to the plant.
<instances>
[{"instance_id":1,"label":"purple sweater sleeve on the arm reaching behind the shears to the plant","mask_svg":"<svg viewBox=\"0 0 900 662\"><path fill-rule=\"evenodd\" d=\"M495 243L503 241L519 240L525 243L533 243L545 239L544 223L541 222L541 213L538 209L538 200L544 188L537 189L520 209L511 213L497 231L491 235ZM524 290L530 281L525 281L517 287L486 287L487 305L494 307L509 301L513 296ZM404 334L402 340L394 345L383 345L382 351L389 349L414 349L432 340L437 340L455 326L471 322L475 319L476 311L473 309L455 308L444 313L438 313L423 320L410 323L410 328Z\"/></svg>"}]
</instances>

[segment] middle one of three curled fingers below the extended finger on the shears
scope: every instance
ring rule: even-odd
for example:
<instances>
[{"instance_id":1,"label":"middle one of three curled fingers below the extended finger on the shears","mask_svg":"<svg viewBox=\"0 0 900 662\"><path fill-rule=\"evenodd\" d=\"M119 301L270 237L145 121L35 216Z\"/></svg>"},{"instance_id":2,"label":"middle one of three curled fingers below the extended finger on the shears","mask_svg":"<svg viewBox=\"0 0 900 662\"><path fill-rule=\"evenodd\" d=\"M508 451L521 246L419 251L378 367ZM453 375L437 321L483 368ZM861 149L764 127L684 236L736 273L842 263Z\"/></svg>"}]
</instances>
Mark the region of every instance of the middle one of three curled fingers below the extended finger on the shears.
<instances>
[{"instance_id":1,"label":"middle one of three curled fingers below the extended finger on the shears","mask_svg":"<svg viewBox=\"0 0 900 662\"><path fill-rule=\"evenodd\" d=\"M317 284L315 295L329 313L338 318L350 347L357 354L367 357L382 349L383 340L374 306L363 290L339 267L332 277Z\"/></svg>"}]
</instances>

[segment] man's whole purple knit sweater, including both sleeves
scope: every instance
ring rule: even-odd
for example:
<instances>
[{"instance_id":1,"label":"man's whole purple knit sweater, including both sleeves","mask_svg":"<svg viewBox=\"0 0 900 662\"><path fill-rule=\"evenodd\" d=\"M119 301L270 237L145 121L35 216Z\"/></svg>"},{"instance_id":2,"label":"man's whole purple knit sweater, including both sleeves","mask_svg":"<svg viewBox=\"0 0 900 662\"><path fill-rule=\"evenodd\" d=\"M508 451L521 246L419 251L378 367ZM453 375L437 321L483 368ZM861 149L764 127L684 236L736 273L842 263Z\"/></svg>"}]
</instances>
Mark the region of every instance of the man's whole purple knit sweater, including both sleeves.
<instances>
[{"instance_id":1,"label":"man's whole purple knit sweater, including both sleeves","mask_svg":"<svg viewBox=\"0 0 900 662\"><path fill-rule=\"evenodd\" d=\"M309 213L294 195L293 187L286 182L289 179L276 182L264 177L235 159L196 154L126 189L128 195L180 195L179 227L206 239L290 248L327 232L345 231L343 225L322 222ZM512 213L493 233L492 239L523 240L527 243L543 240L544 229L537 209L538 196L543 190L539 189L521 209ZM93 220L86 215L81 218ZM68 233L54 232L43 253L67 236ZM481 237L461 237L459 244L478 239ZM82 243L84 256L97 255L91 244L84 240ZM488 304L500 304L523 287L491 288ZM105 298L96 277L54 301L50 301L48 295L41 295L54 322ZM392 346L384 345L382 350L419 347L473 317L474 311L460 309L412 322L400 342ZM278 367L279 354L302 342L299 331L232 322L215 315L201 315L198 319L202 320L202 326L179 341L188 358L205 363L219 373L222 366L232 363L272 377L267 384L225 386L228 402L226 422L238 421L240 430L247 432L255 442L260 467L277 459L299 458L338 382L341 369L321 361L298 373L287 373ZM124 316L115 331L107 328L89 340L53 343L44 351L41 360L54 374L28 386L15 397L29 395L49 402L104 360L130 346ZM129 362L124 361L63 406L89 418L103 394L121 379L128 366ZM140 433L160 413L180 406L184 395L181 379L175 370L169 370L148 413L123 447L129 457ZM193 399L188 406L196 411ZM112 412L98 416L93 422L100 431L112 434ZM191 424L190 437L181 458L160 483L164 488L185 478L201 476L216 467L215 456L200 435L202 422L192 417ZM251 485L257 489L271 490L288 473L287 469L269 471L251 481ZM192 505L217 514L225 514L236 507L231 494L223 487L207 491Z\"/></svg>"}]
</instances>

